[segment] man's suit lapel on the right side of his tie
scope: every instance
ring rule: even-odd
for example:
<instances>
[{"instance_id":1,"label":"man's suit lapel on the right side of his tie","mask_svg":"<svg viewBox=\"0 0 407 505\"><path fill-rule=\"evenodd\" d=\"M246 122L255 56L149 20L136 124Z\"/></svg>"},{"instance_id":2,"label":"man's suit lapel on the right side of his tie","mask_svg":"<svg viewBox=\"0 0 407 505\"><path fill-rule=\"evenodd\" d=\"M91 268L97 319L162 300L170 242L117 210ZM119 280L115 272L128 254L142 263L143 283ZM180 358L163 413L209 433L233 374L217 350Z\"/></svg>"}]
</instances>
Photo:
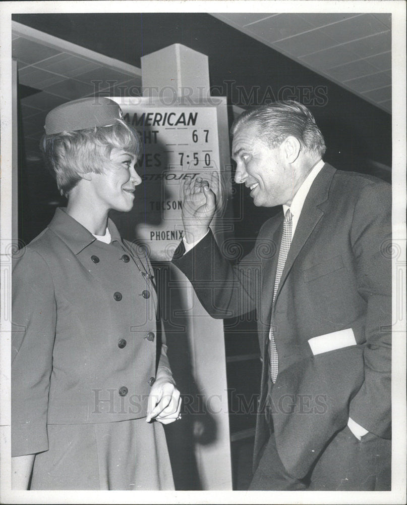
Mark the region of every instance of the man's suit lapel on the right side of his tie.
<instances>
[{"instance_id":1,"label":"man's suit lapel on the right side of his tie","mask_svg":"<svg viewBox=\"0 0 407 505\"><path fill-rule=\"evenodd\" d=\"M300 254L301 249L304 247L304 244L307 242L318 221L324 214L319 206L328 198L329 187L335 171L336 170L331 165L325 164L311 185L288 251L275 299L277 299L285 279L296 261L296 258Z\"/></svg>"}]
</instances>

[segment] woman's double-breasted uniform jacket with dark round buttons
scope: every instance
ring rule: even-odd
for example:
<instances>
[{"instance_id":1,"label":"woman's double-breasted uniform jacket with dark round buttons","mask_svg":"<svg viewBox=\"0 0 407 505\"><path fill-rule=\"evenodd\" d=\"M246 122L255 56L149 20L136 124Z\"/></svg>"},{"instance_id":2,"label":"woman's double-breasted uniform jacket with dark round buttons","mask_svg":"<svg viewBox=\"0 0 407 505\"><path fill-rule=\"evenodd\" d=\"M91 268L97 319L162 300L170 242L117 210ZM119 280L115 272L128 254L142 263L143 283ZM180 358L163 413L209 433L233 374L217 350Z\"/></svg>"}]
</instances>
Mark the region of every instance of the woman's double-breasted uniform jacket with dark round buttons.
<instances>
[{"instance_id":1,"label":"woman's double-breasted uniform jacket with dark round buttons","mask_svg":"<svg viewBox=\"0 0 407 505\"><path fill-rule=\"evenodd\" d=\"M50 426L145 418L156 373L172 380L150 264L108 229L110 244L57 209L16 255L13 456L47 451Z\"/></svg>"}]
</instances>

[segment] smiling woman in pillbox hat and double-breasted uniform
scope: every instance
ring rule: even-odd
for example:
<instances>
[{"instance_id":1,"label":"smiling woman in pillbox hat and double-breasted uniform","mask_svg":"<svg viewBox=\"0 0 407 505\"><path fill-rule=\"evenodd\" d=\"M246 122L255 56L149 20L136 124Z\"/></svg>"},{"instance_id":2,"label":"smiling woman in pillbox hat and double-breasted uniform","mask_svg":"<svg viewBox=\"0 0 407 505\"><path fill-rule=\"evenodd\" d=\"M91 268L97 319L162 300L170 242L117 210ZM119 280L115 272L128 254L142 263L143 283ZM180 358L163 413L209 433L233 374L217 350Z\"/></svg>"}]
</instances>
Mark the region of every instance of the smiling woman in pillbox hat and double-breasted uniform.
<instances>
[{"instance_id":1,"label":"smiling woman in pillbox hat and double-breasted uniform","mask_svg":"<svg viewBox=\"0 0 407 505\"><path fill-rule=\"evenodd\" d=\"M31 475L30 489L173 489L161 424L181 417L181 399L153 275L108 218L132 209L141 183L140 140L121 118L97 97L45 120L46 164L68 206L13 270L14 489Z\"/></svg>"}]
</instances>

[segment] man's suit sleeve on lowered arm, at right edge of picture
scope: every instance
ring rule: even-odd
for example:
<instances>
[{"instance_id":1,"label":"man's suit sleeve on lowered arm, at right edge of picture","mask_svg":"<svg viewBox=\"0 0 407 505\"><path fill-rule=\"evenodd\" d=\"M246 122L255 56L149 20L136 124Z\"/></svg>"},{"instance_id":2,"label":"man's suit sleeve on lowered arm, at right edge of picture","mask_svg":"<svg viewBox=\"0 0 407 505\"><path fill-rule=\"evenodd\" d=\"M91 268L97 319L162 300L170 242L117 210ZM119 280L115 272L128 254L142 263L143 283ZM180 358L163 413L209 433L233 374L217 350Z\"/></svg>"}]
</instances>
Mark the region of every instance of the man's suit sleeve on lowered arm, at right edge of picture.
<instances>
[{"instance_id":1,"label":"man's suit sleeve on lowered arm, at right edge of picture","mask_svg":"<svg viewBox=\"0 0 407 505\"><path fill-rule=\"evenodd\" d=\"M351 241L357 288L367 302L365 380L350 417L375 435L391 427L391 186L367 186L355 208Z\"/></svg>"}]
</instances>

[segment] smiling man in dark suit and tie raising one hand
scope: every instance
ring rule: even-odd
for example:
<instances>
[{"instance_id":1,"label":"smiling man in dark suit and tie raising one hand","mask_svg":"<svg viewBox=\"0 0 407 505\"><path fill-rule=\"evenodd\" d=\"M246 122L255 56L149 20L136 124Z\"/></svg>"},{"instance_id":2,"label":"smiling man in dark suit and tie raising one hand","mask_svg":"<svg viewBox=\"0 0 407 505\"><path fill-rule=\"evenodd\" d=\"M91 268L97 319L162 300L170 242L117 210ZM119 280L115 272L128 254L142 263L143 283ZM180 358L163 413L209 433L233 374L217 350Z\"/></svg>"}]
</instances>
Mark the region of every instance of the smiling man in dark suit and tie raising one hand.
<instances>
[{"instance_id":1,"label":"smiling man in dark suit and tie raising one hand","mask_svg":"<svg viewBox=\"0 0 407 505\"><path fill-rule=\"evenodd\" d=\"M324 163L314 117L296 102L232 126L235 181L282 205L239 265L209 223L218 178L184 188L173 263L213 317L256 310L263 361L250 489L390 489L391 188Z\"/></svg>"}]
</instances>

